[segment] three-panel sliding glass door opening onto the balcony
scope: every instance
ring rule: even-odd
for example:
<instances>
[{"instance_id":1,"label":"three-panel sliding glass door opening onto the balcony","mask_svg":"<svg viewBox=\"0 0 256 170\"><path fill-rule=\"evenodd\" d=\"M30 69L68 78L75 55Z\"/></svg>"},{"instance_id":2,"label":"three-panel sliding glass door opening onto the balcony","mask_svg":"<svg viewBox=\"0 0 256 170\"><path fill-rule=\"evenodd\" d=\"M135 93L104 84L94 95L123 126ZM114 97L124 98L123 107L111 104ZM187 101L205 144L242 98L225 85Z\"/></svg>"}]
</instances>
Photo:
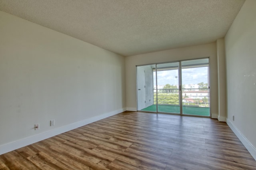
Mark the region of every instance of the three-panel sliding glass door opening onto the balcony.
<instances>
[{"instance_id":1,"label":"three-panel sliding glass door opening onto the balcony","mask_svg":"<svg viewBox=\"0 0 256 170\"><path fill-rule=\"evenodd\" d=\"M137 66L137 110L210 117L209 59Z\"/></svg>"}]
</instances>

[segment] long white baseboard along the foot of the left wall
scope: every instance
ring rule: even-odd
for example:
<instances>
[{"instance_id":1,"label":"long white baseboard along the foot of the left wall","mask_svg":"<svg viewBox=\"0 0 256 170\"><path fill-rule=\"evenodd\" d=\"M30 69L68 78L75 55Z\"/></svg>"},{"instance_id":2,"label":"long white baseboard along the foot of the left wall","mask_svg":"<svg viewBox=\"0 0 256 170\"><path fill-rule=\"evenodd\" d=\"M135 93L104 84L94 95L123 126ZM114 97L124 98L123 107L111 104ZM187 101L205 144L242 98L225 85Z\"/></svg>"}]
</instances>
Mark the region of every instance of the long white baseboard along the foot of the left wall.
<instances>
[{"instance_id":1,"label":"long white baseboard along the foot of the left wall","mask_svg":"<svg viewBox=\"0 0 256 170\"><path fill-rule=\"evenodd\" d=\"M72 123L72 124L69 124L69 125L66 125L66 126L63 126L63 127L55 128L53 130L49 130L49 131L46 131L46 132L42 132L40 134L36 134L36 135L33 135L33 136L29 136L29 137L26 137L26 138L22 138L20 140L16 140L16 141L7 143L7 144L0 145L0 155L4 154L4 153L7 153L7 152L10 152L12 150L16 150L18 148L22 148L22 147L27 146L29 144L33 144L35 142L39 142L41 140L50 138L52 136L56 136L58 134L67 132L69 130L72 130L72 129L75 129L75 128L78 128L78 127L82 127L84 125L88 125L90 123L99 121L101 119L116 115L118 113L122 113L124 111L126 111L126 108L119 109L119 110L112 111L112 112L108 112L108 113L104 113L104 114L99 115L99 116L91 117L89 119L84 119L84 120L76 122L76 123Z\"/></svg>"}]
</instances>

